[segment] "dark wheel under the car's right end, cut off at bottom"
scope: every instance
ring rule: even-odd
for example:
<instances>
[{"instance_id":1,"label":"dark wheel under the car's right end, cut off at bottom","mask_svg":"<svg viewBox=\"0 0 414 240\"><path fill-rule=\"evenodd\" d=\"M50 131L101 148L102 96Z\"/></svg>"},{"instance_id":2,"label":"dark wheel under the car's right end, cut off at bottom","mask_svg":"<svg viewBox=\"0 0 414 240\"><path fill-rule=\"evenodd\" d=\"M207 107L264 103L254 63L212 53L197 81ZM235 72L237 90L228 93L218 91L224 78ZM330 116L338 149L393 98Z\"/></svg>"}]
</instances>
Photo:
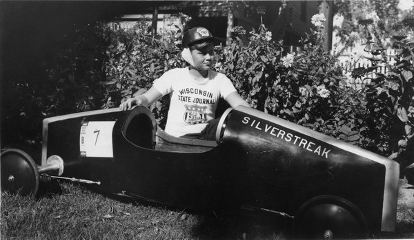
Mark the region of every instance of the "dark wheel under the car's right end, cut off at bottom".
<instances>
[{"instance_id":1,"label":"dark wheel under the car's right end, cut off at bottom","mask_svg":"<svg viewBox=\"0 0 414 240\"><path fill-rule=\"evenodd\" d=\"M293 219L293 239L367 239L362 212L342 197L324 195L306 201Z\"/></svg>"}]
</instances>

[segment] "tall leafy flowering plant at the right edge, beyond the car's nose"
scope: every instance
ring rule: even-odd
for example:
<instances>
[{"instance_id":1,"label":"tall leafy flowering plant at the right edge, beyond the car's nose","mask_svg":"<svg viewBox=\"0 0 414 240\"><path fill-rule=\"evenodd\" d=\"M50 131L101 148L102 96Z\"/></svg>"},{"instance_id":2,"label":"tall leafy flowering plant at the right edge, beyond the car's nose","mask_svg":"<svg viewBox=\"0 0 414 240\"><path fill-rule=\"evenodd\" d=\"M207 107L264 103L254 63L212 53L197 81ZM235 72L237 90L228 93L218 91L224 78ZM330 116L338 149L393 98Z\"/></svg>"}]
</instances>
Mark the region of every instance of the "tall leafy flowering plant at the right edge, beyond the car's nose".
<instances>
[{"instance_id":1,"label":"tall leafy flowering plant at the right edge, beyond the car's nose","mask_svg":"<svg viewBox=\"0 0 414 240\"><path fill-rule=\"evenodd\" d=\"M366 32L366 56L373 67L358 67L353 69L354 78L369 79L370 74L376 74L371 85L366 89L367 108L372 121L375 123L371 131L375 132L373 142L383 155L406 165L413 160L414 150L414 19L404 19L402 24L406 29L401 34L392 36L391 43L383 43L377 25L379 17L375 12L359 20L359 25ZM391 64L386 58L386 48L395 50L395 63ZM377 72L381 66L386 66L387 72Z\"/></svg>"}]
</instances>

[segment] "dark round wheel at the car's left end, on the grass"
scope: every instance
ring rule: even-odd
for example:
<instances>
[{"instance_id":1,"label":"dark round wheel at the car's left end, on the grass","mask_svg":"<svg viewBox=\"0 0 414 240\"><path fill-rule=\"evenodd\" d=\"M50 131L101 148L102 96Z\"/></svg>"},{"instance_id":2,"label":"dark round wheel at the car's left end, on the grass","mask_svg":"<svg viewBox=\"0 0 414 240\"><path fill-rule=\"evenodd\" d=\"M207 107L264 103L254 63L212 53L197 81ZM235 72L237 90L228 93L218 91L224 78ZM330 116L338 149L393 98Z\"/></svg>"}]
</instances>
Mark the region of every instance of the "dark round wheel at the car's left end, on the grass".
<instances>
[{"instance_id":1,"label":"dark round wheel at the car's left end, on the grass","mask_svg":"<svg viewBox=\"0 0 414 240\"><path fill-rule=\"evenodd\" d=\"M39 171L32 157L19 149L1 153L1 191L35 196L39 189Z\"/></svg>"}]
</instances>

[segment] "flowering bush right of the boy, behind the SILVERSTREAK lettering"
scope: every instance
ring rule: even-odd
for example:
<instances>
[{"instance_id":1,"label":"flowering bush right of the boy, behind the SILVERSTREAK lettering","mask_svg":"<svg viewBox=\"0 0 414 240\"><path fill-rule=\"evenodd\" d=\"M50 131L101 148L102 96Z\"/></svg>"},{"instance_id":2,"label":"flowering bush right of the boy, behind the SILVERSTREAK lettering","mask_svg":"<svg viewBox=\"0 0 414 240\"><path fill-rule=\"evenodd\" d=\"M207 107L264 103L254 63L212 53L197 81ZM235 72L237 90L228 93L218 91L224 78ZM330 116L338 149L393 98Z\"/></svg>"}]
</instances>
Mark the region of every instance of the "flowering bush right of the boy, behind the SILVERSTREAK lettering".
<instances>
[{"instance_id":1,"label":"flowering bush right of the boy, behind the SILVERSTREAK lettering","mask_svg":"<svg viewBox=\"0 0 414 240\"><path fill-rule=\"evenodd\" d=\"M324 52L324 15L312 21L317 30L294 53L271 42L264 25L244 46L239 34L246 32L236 27L217 66L251 107L355 144L366 116L362 92L347 87L337 56Z\"/></svg>"}]
</instances>

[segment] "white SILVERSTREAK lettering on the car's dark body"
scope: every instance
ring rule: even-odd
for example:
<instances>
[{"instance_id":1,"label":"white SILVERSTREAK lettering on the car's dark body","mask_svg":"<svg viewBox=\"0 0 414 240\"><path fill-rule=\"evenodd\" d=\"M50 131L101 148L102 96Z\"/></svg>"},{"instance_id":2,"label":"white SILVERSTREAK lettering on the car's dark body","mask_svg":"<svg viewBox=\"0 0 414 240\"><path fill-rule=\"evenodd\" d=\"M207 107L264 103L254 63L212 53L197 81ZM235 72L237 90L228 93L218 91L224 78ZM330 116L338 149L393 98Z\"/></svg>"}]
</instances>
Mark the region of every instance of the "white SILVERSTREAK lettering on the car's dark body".
<instances>
[{"instance_id":1,"label":"white SILVERSTREAK lettering on the car's dark body","mask_svg":"<svg viewBox=\"0 0 414 240\"><path fill-rule=\"evenodd\" d=\"M331 152L331 149L326 149L326 147L316 144L310 140L306 140L305 138L301 138L294 133L288 133L282 129L278 129L269 124L263 124L259 120L250 119L249 117L244 117L242 120L243 124L246 124L250 127L253 127L257 130L264 131L264 133L268 133L273 135L276 138L280 138L285 140L286 142L291 142L294 145L302 147L307 151L311 151L319 156L328 158L328 153Z\"/></svg>"}]
</instances>

